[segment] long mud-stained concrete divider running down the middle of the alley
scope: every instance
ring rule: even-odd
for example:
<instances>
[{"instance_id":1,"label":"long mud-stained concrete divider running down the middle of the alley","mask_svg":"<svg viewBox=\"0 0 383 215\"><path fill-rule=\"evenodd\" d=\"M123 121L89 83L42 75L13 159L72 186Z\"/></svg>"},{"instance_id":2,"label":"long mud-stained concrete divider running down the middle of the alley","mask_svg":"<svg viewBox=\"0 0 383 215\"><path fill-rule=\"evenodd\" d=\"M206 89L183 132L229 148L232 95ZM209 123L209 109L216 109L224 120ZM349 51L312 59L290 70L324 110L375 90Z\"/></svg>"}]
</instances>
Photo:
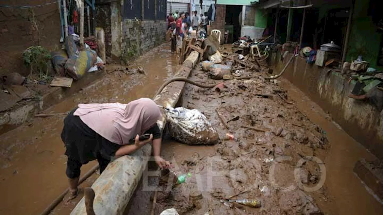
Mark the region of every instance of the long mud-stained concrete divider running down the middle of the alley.
<instances>
[{"instance_id":1,"label":"long mud-stained concrete divider running down the middle of the alley","mask_svg":"<svg viewBox=\"0 0 383 215\"><path fill-rule=\"evenodd\" d=\"M196 51L190 53L177 73L177 77L187 78L194 68L199 54ZM154 101L164 107L174 107L182 95L184 82L172 82L166 86L160 94L155 96ZM166 119L158 121L160 129L164 128ZM123 156L108 165L100 177L93 183L95 191L93 208L97 214L123 214L128 205L142 172L146 168L151 155L151 145L145 145L131 156ZM72 215L86 214L85 199L82 198L72 210Z\"/></svg>"}]
</instances>

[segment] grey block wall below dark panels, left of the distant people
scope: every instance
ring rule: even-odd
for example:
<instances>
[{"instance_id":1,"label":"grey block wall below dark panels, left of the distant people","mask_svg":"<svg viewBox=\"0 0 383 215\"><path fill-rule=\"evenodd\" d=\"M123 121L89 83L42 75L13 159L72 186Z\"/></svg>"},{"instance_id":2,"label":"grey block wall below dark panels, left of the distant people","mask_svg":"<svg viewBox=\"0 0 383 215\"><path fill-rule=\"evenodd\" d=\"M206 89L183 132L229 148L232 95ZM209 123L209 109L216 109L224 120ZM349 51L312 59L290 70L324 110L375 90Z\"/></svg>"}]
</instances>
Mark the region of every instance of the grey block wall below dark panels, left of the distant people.
<instances>
[{"instance_id":1,"label":"grey block wall below dark panels, left of the distant people","mask_svg":"<svg viewBox=\"0 0 383 215\"><path fill-rule=\"evenodd\" d=\"M141 55L164 42L166 21L125 20L122 29L122 53Z\"/></svg>"}]
</instances>

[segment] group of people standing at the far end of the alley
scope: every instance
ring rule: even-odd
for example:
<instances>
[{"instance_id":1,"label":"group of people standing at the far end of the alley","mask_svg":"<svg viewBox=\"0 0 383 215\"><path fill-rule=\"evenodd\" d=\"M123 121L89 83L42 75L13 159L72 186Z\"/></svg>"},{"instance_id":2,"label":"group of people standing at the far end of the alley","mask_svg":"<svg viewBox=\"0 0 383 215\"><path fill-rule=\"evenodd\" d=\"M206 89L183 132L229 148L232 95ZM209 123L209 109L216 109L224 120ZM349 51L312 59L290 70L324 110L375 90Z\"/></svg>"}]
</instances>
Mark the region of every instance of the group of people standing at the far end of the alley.
<instances>
[{"instance_id":1,"label":"group of people standing at the far end of the alley","mask_svg":"<svg viewBox=\"0 0 383 215\"><path fill-rule=\"evenodd\" d=\"M171 34L172 52L180 53L182 40L185 37L189 37L193 30L198 32L199 29L203 28L207 33L208 21L209 18L206 12L198 16L197 11L194 11L192 17L190 17L189 13L184 12L178 13L178 11L175 11L174 13L170 13L166 18L166 22L168 32Z\"/></svg>"}]
</instances>

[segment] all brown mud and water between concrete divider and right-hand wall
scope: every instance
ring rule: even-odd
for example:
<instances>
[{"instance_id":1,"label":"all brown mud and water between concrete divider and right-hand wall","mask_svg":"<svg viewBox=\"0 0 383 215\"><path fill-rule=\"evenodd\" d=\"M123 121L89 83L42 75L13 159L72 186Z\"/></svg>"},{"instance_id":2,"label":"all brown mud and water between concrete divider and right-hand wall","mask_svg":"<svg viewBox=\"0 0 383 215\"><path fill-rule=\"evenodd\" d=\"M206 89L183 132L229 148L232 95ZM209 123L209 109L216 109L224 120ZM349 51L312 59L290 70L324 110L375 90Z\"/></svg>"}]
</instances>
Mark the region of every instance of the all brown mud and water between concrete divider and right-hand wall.
<instances>
[{"instance_id":1,"label":"all brown mud and water between concrete divider and right-hand wall","mask_svg":"<svg viewBox=\"0 0 383 215\"><path fill-rule=\"evenodd\" d=\"M200 70L192 71L191 80L217 82ZM283 78L277 84L258 77L225 81L225 85L218 93L187 84L179 105L203 112L222 139L229 132L238 140L223 140L215 146L164 140L164 158L172 161L179 174L192 177L176 186L171 174L170 179L160 178L162 192L157 195L155 214L167 208L176 208L180 214L383 212L383 205L353 173L358 159L373 155L302 91ZM217 116L217 108L229 129ZM237 209L219 201L241 191L248 192L233 199L260 200L262 207ZM193 200L195 193L202 199ZM142 191L141 184L125 214L149 213L152 194Z\"/></svg>"}]
</instances>

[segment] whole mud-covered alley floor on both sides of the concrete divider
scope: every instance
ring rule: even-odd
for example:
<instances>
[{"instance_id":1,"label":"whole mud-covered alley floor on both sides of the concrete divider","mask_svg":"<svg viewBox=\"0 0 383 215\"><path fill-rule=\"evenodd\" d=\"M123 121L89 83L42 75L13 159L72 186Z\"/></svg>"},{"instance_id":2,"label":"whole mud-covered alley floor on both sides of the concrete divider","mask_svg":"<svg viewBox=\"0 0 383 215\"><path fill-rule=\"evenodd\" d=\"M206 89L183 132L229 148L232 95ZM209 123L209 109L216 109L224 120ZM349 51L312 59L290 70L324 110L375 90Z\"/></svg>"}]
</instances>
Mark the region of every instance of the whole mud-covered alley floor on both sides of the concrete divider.
<instances>
[{"instance_id":1,"label":"whole mud-covered alley floor on both sides of the concrete divider","mask_svg":"<svg viewBox=\"0 0 383 215\"><path fill-rule=\"evenodd\" d=\"M238 58L226 55L226 64ZM79 103L152 98L180 68L172 56L170 44L163 44L128 66L108 65L103 79L44 112L67 112ZM259 64L258 72L237 69L237 76L219 87L186 83L177 106L203 113L220 141L185 145L165 126L162 156L172 163L173 172L143 177L123 214L150 214L152 210L160 214L169 208L179 214L201 215L383 212L380 199L353 171L359 159L375 157L288 80L265 79L268 66L262 60ZM191 70L190 80L203 85L222 83L211 79L201 65ZM132 69L138 67L142 69ZM67 188L67 158L60 138L63 118L34 118L1 135L0 188L7 194L2 197L2 214L39 214ZM95 163L83 166L82 174ZM157 171L157 166L150 161L148 169ZM178 184L174 173L188 176ZM80 187L91 186L98 176L96 172ZM144 180L159 191L145 190ZM51 214L69 214L82 197L80 191L76 199L61 202ZM247 207L230 199L259 204Z\"/></svg>"}]
</instances>

